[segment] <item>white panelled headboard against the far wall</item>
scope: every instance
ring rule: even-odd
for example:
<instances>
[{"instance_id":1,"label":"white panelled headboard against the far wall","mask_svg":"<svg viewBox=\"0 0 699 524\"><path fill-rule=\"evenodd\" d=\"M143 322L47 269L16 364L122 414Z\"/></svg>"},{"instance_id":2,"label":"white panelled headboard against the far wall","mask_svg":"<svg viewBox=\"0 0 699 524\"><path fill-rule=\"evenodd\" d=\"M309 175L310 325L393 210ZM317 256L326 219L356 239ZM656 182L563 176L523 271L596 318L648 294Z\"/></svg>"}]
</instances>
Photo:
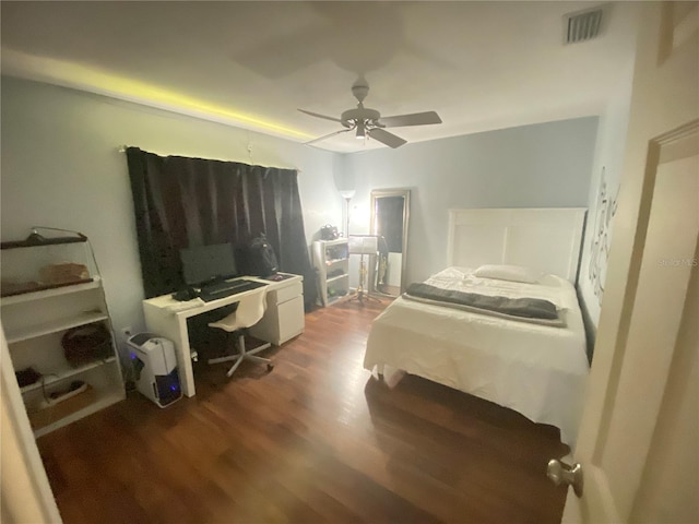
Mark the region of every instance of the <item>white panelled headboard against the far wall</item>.
<instances>
[{"instance_id":1,"label":"white panelled headboard against the far wall","mask_svg":"<svg viewBox=\"0 0 699 524\"><path fill-rule=\"evenodd\" d=\"M449 210L448 265L514 264L576 283L585 210Z\"/></svg>"}]
</instances>

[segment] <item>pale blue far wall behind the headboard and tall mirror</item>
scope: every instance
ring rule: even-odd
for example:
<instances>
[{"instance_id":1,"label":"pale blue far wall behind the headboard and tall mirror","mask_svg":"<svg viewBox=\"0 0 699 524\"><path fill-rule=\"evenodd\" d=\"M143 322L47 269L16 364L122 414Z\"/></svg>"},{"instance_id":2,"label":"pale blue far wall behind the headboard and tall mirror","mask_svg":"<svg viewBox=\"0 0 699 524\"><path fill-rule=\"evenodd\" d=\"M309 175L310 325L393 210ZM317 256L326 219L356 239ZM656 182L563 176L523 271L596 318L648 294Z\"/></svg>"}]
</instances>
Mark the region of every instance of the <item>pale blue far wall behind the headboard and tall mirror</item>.
<instances>
[{"instance_id":1,"label":"pale blue far wall behind the headboard and tall mirror","mask_svg":"<svg viewBox=\"0 0 699 524\"><path fill-rule=\"evenodd\" d=\"M596 130L589 117L348 155L351 231L368 233L372 189L410 188L407 282L422 281L447 263L449 209L587 207Z\"/></svg>"}]
</instances>

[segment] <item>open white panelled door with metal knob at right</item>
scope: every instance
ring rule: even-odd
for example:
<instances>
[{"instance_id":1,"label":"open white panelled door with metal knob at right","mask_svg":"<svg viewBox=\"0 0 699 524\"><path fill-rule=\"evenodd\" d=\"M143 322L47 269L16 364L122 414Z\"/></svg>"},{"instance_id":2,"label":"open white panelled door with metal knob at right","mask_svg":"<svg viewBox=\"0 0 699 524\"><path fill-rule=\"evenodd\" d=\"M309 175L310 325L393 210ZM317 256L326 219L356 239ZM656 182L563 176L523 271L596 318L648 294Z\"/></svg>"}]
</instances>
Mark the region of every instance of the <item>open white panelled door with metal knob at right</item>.
<instances>
[{"instance_id":1,"label":"open white panelled door with metal knob at right","mask_svg":"<svg viewBox=\"0 0 699 524\"><path fill-rule=\"evenodd\" d=\"M699 8L644 4L564 522L699 522Z\"/></svg>"}]
</instances>

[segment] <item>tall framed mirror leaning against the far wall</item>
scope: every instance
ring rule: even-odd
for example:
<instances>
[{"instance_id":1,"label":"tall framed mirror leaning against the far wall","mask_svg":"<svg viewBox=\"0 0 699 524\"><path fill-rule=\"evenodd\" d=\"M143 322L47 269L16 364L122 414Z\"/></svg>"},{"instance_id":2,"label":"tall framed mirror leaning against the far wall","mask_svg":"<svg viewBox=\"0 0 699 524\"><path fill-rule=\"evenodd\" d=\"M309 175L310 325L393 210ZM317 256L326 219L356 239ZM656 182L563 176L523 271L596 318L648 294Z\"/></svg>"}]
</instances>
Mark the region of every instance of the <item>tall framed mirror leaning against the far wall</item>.
<instances>
[{"instance_id":1,"label":"tall framed mirror leaning against the far wall","mask_svg":"<svg viewBox=\"0 0 699 524\"><path fill-rule=\"evenodd\" d=\"M372 290L398 297L405 290L410 189L371 191L371 235L379 237L379 254L371 266Z\"/></svg>"}]
</instances>

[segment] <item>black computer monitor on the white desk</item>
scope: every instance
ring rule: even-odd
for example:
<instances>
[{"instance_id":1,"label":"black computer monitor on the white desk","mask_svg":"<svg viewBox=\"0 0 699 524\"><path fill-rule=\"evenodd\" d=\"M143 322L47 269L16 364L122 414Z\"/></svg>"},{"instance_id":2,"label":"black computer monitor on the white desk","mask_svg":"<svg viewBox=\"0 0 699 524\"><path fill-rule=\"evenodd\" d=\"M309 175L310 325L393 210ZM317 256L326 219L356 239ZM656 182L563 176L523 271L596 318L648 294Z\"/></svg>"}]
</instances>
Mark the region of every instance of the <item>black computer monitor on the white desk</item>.
<instances>
[{"instance_id":1,"label":"black computer monitor on the white desk","mask_svg":"<svg viewBox=\"0 0 699 524\"><path fill-rule=\"evenodd\" d=\"M179 257L182 261L185 284L189 286L230 278L238 274L230 243L182 249Z\"/></svg>"}]
</instances>

